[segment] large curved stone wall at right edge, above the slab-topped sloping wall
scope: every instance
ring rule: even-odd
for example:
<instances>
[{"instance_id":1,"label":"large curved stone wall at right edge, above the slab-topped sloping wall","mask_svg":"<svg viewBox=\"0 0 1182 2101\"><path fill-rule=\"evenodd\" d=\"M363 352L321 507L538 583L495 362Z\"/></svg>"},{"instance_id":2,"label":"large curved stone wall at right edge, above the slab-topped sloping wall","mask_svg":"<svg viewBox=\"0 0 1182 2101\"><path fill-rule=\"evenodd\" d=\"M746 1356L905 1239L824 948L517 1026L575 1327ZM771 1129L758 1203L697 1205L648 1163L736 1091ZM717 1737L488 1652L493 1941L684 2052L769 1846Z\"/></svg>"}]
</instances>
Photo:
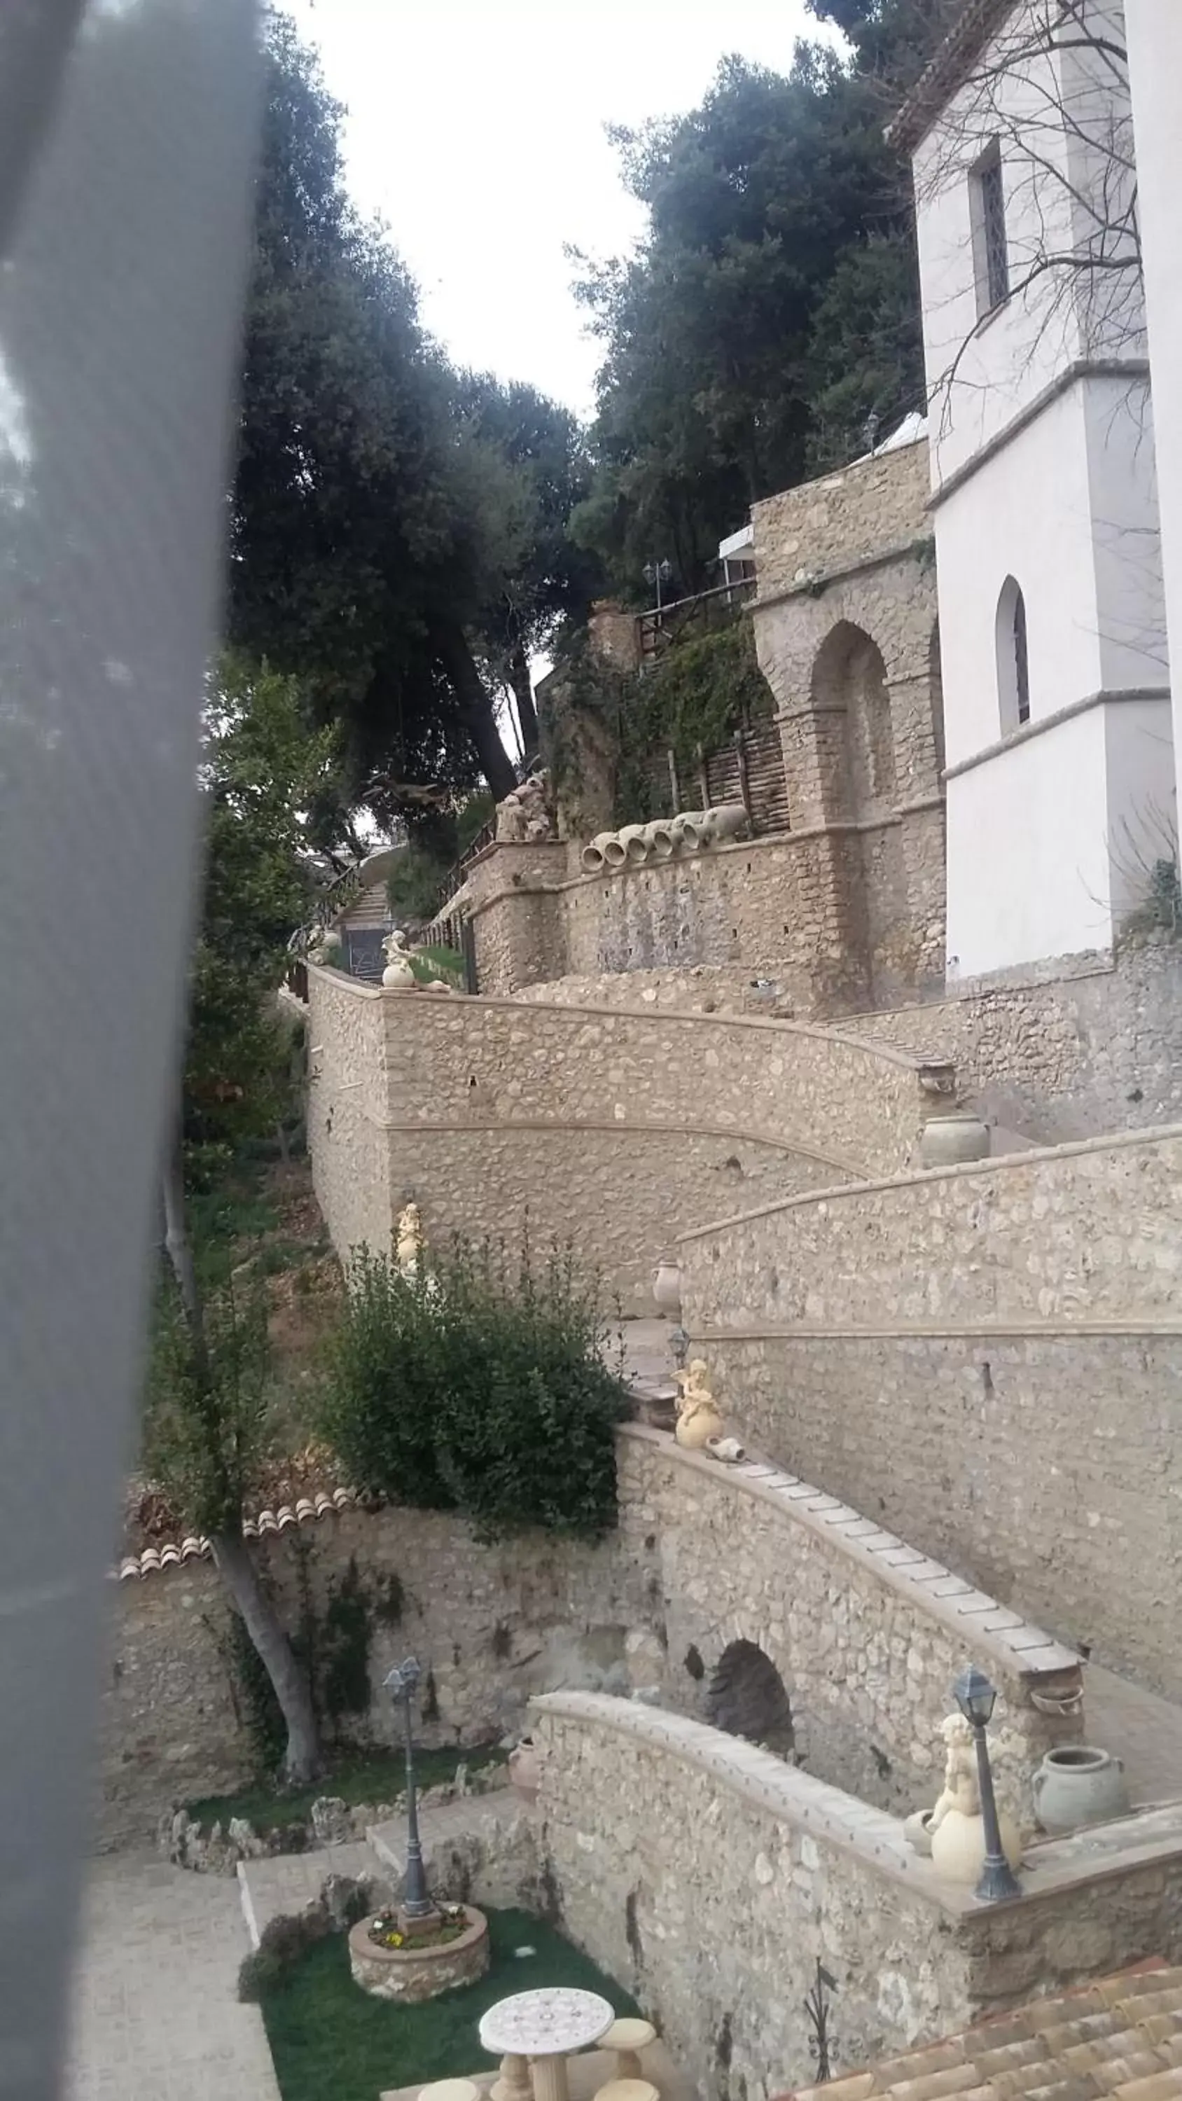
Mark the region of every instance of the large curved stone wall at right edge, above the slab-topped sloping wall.
<instances>
[{"instance_id":1,"label":"large curved stone wall at right edge, above the slab-topped sloping wall","mask_svg":"<svg viewBox=\"0 0 1182 2101\"><path fill-rule=\"evenodd\" d=\"M773 1458L1182 1693L1182 1128L848 1185L680 1242Z\"/></svg>"}]
</instances>

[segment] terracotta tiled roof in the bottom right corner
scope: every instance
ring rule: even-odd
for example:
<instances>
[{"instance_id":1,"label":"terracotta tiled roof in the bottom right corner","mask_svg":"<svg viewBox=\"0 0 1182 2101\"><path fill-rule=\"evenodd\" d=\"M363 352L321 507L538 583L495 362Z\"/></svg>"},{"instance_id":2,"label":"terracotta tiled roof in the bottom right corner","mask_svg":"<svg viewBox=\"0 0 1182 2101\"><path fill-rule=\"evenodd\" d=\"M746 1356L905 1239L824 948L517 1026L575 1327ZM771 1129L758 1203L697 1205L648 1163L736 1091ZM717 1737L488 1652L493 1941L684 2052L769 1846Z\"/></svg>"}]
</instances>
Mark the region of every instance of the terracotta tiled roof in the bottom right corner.
<instances>
[{"instance_id":1,"label":"terracotta tiled roof in the bottom right corner","mask_svg":"<svg viewBox=\"0 0 1182 2101\"><path fill-rule=\"evenodd\" d=\"M1182 2101L1182 1969L1159 1958L781 2101Z\"/></svg>"}]
</instances>

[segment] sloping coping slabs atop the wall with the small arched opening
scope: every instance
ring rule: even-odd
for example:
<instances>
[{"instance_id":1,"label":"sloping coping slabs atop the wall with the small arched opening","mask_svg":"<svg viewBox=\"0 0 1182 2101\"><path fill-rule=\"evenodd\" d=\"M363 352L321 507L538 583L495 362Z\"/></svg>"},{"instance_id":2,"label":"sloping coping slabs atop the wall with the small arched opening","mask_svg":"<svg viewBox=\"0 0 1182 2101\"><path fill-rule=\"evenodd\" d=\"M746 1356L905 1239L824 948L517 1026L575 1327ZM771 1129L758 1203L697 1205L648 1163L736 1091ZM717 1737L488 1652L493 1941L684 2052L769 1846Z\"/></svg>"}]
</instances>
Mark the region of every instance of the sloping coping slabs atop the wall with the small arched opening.
<instances>
[{"instance_id":1,"label":"sloping coping slabs atop the wall with the small arched opening","mask_svg":"<svg viewBox=\"0 0 1182 2101\"><path fill-rule=\"evenodd\" d=\"M701 1475L716 1488L752 1496L766 1504L781 1523L802 1525L831 1553L854 1561L878 1582L888 1584L899 1597L938 1620L966 1651L985 1658L993 1670L1014 1683L1058 1677L1079 1670L1079 1651L1056 1641L1046 1628L1025 1620L1020 1611L999 1605L987 1590L978 1590L964 1576L953 1576L943 1561L932 1561L917 1546L907 1546L899 1534L863 1517L840 1496L827 1496L794 1473L783 1473L764 1460L743 1460L737 1466L722 1466L699 1452L684 1452L670 1431L651 1429L647 1422L624 1422L621 1439L634 1439L661 1454L672 1466Z\"/></svg>"}]
</instances>

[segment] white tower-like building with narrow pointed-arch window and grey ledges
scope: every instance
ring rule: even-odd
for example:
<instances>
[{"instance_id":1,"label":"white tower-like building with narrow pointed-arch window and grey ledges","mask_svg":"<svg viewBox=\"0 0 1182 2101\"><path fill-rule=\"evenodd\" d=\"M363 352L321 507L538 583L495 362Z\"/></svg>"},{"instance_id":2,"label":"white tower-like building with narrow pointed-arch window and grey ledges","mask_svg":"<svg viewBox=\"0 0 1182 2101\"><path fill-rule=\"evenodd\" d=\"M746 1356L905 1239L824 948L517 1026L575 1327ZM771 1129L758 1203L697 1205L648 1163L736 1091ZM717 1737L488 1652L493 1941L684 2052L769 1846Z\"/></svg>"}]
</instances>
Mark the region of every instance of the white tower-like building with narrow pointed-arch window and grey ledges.
<instances>
[{"instance_id":1,"label":"white tower-like building with narrow pointed-arch window and grey ledges","mask_svg":"<svg viewBox=\"0 0 1182 2101\"><path fill-rule=\"evenodd\" d=\"M894 128L930 391L949 979L1109 950L1176 836L1121 48L1117 0L1073 0L1071 34L1058 0L968 0Z\"/></svg>"}]
</instances>

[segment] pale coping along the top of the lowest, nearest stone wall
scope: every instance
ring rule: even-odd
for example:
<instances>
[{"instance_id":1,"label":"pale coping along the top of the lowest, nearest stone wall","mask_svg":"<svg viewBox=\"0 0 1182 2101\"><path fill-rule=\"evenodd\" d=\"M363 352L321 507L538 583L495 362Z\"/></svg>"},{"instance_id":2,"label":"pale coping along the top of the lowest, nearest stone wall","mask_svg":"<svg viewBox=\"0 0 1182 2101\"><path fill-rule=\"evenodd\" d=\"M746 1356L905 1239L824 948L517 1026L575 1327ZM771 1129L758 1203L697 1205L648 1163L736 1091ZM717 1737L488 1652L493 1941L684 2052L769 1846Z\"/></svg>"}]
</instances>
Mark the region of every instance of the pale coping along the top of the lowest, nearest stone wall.
<instances>
[{"instance_id":1,"label":"pale coping along the top of the lowest, nearest stone wall","mask_svg":"<svg viewBox=\"0 0 1182 2101\"><path fill-rule=\"evenodd\" d=\"M1094 1840L1096 1832L1054 1845L1027 1847L1020 1897L983 1906L970 1889L947 1882L930 1859L911 1849L899 1817L888 1815L886 1809L873 1809L857 1794L844 1794L825 1780L815 1780L812 1773L796 1765L785 1765L783 1759L758 1744L724 1735L722 1729L691 1721L687 1714L674 1714L670 1708L617 1700L611 1693L535 1693L529 1710L537 1717L552 1714L556 1721L628 1735L651 1750L682 1759L777 1822L815 1834L852 1857L863 1870L886 1876L955 1920L983 1918L997 1910L1010 1910L1012 1904L1037 1906L1067 1889L1121 1880L1157 1861L1182 1864L1180 1817L1163 1811L1134 1813L1121 1817L1119 1824L1104 1826L1106 1847L1079 1843L1088 1836ZM546 1769L542 1769L542 1796L546 1796ZM544 1801L542 1809L546 1809Z\"/></svg>"}]
</instances>

